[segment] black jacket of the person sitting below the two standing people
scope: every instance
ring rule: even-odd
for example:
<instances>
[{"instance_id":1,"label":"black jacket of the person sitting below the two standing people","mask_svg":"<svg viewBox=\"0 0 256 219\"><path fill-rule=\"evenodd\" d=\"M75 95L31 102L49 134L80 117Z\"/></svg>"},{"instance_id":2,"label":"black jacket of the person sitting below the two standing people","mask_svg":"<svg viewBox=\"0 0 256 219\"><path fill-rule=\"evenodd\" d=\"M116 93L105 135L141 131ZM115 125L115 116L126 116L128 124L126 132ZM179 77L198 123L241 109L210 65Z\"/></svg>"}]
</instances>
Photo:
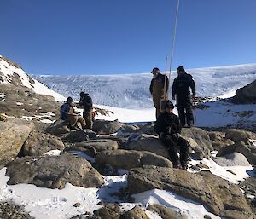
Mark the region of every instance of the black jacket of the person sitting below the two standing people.
<instances>
[{"instance_id":1,"label":"black jacket of the person sitting below the two standing people","mask_svg":"<svg viewBox=\"0 0 256 219\"><path fill-rule=\"evenodd\" d=\"M165 135L180 134L181 129L182 127L177 115L167 112L160 114L154 125L154 130L158 135L160 135L161 132Z\"/></svg>"}]
</instances>

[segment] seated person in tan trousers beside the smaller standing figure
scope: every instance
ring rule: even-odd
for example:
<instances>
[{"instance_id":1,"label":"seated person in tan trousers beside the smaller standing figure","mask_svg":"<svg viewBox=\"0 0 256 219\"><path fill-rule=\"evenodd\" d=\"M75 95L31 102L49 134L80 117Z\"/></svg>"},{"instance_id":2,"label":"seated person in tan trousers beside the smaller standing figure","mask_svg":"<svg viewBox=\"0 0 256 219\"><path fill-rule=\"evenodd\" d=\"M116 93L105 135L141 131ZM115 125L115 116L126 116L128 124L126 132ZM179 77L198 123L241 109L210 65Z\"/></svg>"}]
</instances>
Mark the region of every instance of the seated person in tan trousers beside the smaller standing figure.
<instances>
[{"instance_id":1,"label":"seated person in tan trousers beside the smaller standing figure","mask_svg":"<svg viewBox=\"0 0 256 219\"><path fill-rule=\"evenodd\" d=\"M67 102L61 106L61 119L65 120L71 129L78 129L77 123L85 129L86 123L83 117L74 111L72 97L67 97Z\"/></svg>"}]
</instances>

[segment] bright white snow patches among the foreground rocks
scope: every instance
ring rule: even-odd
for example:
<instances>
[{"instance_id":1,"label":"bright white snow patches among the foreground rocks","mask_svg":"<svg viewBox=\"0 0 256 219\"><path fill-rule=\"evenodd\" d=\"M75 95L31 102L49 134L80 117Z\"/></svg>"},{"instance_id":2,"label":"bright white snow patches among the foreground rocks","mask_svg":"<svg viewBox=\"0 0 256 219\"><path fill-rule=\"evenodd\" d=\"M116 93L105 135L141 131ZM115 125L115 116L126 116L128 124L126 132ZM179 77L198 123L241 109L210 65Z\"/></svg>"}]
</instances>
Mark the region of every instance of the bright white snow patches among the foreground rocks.
<instances>
[{"instance_id":1,"label":"bright white snow patches among the foreground rocks","mask_svg":"<svg viewBox=\"0 0 256 219\"><path fill-rule=\"evenodd\" d=\"M190 164L196 164L197 162L198 161L192 161ZM204 159L203 163L210 167L212 174L221 176L234 183L249 177L247 171L253 170L252 166L221 167L211 159ZM236 175L227 172L227 169L232 170ZM66 187L61 190L36 187L28 184L9 186L7 185L9 177L5 176L5 171L6 168L0 170L0 201L12 201L17 205L24 205L25 210L30 212L30 215L37 219L65 219L74 215L84 214L86 211L92 213L93 210L102 207L98 205L101 200L110 203L120 203L124 210L130 210L136 204L143 205L144 208L152 204L161 204L173 210L177 210L189 216L189 218L199 219L203 218L204 215L209 215L212 219L220 218L219 216L212 215L207 211L207 208L199 203L185 199L170 191L159 189L134 195L135 203L122 203L122 201L119 200L118 197L113 196L112 193L118 192L120 187L126 187L125 171L122 171L123 173L120 173L120 176L104 176L105 184L99 189L93 187L74 187L70 183L67 183ZM80 203L81 205L74 207L73 205L76 203ZM149 211L147 211L147 214L151 219L160 218L160 216Z\"/></svg>"}]
</instances>

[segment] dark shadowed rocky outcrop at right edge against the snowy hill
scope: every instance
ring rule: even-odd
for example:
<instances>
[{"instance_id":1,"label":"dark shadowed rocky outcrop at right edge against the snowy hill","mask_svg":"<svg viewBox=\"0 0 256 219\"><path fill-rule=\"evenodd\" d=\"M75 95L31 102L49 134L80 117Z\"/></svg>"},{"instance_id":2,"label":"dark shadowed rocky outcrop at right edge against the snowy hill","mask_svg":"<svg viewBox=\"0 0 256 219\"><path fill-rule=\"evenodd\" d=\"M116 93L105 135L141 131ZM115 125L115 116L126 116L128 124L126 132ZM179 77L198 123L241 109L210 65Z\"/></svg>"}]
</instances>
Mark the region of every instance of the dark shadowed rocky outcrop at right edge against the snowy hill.
<instances>
[{"instance_id":1,"label":"dark shadowed rocky outcrop at right edge against the snowy hill","mask_svg":"<svg viewBox=\"0 0 256 219\"><path fill-rule=\"evenodd\" d=\"M256 80L237 89L232 101L235 103L256 103Z\"/></svg>"}]
</instances>

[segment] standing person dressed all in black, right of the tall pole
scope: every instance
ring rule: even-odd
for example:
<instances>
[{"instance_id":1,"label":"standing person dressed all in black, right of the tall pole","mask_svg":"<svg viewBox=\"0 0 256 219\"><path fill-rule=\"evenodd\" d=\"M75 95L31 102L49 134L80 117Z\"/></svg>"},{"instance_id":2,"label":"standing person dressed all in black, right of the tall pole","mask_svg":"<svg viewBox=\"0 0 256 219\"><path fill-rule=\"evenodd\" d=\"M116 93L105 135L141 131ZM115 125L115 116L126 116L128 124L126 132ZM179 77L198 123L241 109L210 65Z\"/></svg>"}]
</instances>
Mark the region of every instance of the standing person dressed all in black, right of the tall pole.
<instances>
[{"instance_id":1,"label":"standing person dressed all in black, right of the tall pole","mask_svg":"<svg viewBox=\"0 0 256 219\"><path fill-rule=\"evenodd\" d=\"M183 66L177 68L177 78L172 84L172 100L177 102L177 112L183 127L191 127L194 124L192 101L190 97L192 89L192 99L195 98L195 81L192 76L185 72Z\"/></svg>"}]
</instances>

